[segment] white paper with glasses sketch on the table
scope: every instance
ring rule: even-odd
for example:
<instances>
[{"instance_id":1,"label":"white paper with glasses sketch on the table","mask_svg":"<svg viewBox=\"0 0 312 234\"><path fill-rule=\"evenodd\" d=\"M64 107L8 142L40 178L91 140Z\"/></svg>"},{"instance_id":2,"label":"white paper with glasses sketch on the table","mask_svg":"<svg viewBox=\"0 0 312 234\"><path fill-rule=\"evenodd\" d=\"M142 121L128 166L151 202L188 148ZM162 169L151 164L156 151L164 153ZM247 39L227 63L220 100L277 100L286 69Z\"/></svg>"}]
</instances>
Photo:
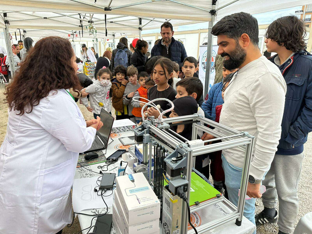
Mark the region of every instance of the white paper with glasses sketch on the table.
<instances>
[{"instance_id":1,"label":"white paper with glasses sketch on the table","mask_svg":"<svg viewBox=\"0 0 312 234\"><path fill-rule=\"evenodd\" d=\"M81 212L86 209L106 207L101 195L99 196L97 195L97 192L94 192L95 187L97 188L97 190L99 190L99 187L96 184L99 176L74 180L72 199L74 212ZM98 183L100 184L100 182ZM103 193L103 195L109 195L110 193L112 193L112 191L108 190ZM98 192L98 194L100 194L100 191ZM113 194L111 196L103 198L108 207L111 207L113 205Z\"/></svg>"}]
</instances>

